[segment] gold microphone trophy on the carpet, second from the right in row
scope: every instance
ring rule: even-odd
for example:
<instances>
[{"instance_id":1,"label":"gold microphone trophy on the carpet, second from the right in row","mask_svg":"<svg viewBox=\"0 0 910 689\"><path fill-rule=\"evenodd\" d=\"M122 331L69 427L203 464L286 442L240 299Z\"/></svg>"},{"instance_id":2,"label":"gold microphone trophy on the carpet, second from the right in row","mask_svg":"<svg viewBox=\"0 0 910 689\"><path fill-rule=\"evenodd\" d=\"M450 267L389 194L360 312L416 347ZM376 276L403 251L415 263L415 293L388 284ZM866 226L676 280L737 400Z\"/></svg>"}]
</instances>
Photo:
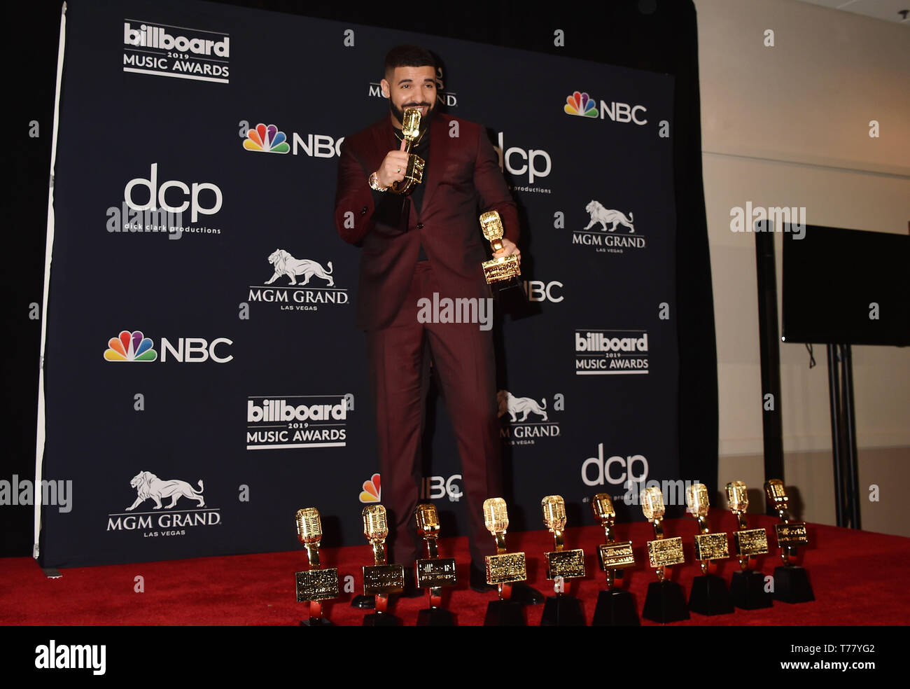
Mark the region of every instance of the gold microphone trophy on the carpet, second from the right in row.
<instances>
[{"instance_id":1,"label":"gold microphone trophy on the carpet, second from the right in row","mask_svg":"<svg viewBox=\"0 0 910 689\"><path fill-rule=\"evenodd\" d=\"M768 552L768 534L764 529L748 528L745 511L749 507L749 492L743 481L727 483L727 504L739 524L733 532L736 557L740 561L740 571L733 572L730 580L733 605L742 610L770 608L774 603L765 589L764 574L755 571L756 556Z\"/></svg>"}]
</instances>

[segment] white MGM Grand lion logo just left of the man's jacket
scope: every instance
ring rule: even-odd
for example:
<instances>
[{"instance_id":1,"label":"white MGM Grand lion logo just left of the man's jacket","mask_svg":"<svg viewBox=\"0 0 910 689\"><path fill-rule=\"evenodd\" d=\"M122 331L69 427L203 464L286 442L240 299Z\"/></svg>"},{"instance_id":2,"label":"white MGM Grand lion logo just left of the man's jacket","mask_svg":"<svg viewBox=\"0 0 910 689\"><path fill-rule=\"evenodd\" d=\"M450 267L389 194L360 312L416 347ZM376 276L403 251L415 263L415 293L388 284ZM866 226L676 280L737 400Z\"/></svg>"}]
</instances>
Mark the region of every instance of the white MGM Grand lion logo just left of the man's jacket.
<instances>
[{"instance_id":1,"label":"white MGM Grand lion logo just left of the man's jacket","mask_svg":"<svg viewBox=\"0 0 910 689\"><path fill-rule=\"evenodd\" d=\"M271 277L263 285L249 285L248 301L278 304L282 311L318 311L320 306L349 303L348 290L335 287L331 261L323 265L277 248L268 255L268 263Z\"/></svg>"}]
</instances>

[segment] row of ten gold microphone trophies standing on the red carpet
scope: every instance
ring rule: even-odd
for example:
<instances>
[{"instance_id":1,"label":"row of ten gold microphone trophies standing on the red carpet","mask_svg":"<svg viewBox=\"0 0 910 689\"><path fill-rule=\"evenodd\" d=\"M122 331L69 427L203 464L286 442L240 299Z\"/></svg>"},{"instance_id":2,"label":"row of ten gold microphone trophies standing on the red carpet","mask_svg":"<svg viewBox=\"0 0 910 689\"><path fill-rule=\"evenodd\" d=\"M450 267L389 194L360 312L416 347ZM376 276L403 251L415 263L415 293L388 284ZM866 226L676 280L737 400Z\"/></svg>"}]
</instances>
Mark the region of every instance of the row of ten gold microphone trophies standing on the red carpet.
<instances>
[{"instance_id":1,"label":"row of ten gold microphone trophies standing on the red carpet","mask_svg":"<svg viewBox=\"0 0 910 689\"><path fill-rule=\"evenodd\" d=\"M726 492L730 510L736 516L738 529L733 532L736 557L740 571L733 573L730 589L716 573L717 562L730 557L729 542L725 532L710 532L707 515L708 489L696 483L686 489L687 512L698 520L699 533L695 536L695 559L701 563L702 575L695 577L689 602L679 583L670 580L670 568L682 564L682 537L667 537L663 533L663 496L659 488L642 491L642 512L652 522L654 540L647 542L648 559L657 575L657 581L648 586L642 617L660 623L688 619L689 611L707 615L733 613L733 607L753 610L771 607L773 600L786 603L813 601L814 594L806 572L795 563L796 548L808 543L804 522L794 522L788 511L788 498L784 484L779 480L764 484L769 504L778 513L780 522L775 524L777 544L781 549L783 565L774 570L773 577L765 577L755 570L756 556L768 552L767 532L763 528L750 529L746 523L749 506L747 489L743 481L727 483ZM566 525L565 502L559 495L548 495L541 501L543 522L553 534L555 548L546 552L546 578L554 582L555 595L547 598L541 618L542 625L584 624L581 605L573 596L563 593L564 581L585 576L584 551L581 548L566 550L563 531ZM622 573L635 564L632 541L616 541L613 527L616 512L610 496L598 493L591 501L594 517L601 522L606 541L598 546L598 560L606 574L607 589L598 595L594 625L639 624L632 594L622 588ZM483 502L484 523L496 540L496 554L486 557L487 583L495 585L499 600L490 603L485 625L521 625L524 614L521 605L511 600L511 585L527 579L524 552L509 552L506 532L509 514L502 498ZM418 624L452 624L452 616L442 607L442 589L456 583L454 558L440 557L437 540L440 536L439 516L432 503L418 505L415 512L417 529L426 546L426 557L415 563L417 587L429 593L430 608L420 611ZM297 572L297 600L309 604L306 625L328 624L322 615L322 601L339 595L337 568L323 569L319 563L319 542L322 526L319 511L309 507L297 513L298 538L306 547L309 569ZM386 510L382 505L368 505L363 509L363 530L372 550L374 563L363 568L363 593L375 596L375 613L364 618L364 625L398 624L397 617L389 613L389 595L401 593L405 586L404 567L389 564L386 560L386 538L389 526Z\"/></svg>"}]
</instances>

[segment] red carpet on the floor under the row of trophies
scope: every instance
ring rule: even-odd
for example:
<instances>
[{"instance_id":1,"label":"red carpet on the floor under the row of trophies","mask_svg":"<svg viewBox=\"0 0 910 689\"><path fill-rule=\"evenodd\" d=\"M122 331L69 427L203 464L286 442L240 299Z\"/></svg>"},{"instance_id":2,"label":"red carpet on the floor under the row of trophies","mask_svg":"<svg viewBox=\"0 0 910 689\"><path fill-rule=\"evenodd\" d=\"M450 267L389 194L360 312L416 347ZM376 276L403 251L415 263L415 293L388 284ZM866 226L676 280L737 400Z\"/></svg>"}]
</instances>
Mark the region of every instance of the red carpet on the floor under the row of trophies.
<instances>
[{"instance_id":1,"label":"red carpet on the floor under the row of trophies","mask_svg":"<svg viewBox=\"0 0 910 689\"><path fill-rule=\"evenodd\" d=\"M713 511L712 529L733 531L730 512ZM750 515L750 526L768 528L773 543L773 523L769 517ZM653 538L647 522L619 524L618 540L631 539L638 566L627 571L627 588L635 595L642 612L649 583L656 580L647 569L645 542ZM682 584L688 595L693 577L700 572L693 561L693 519L665 522L667 536L682 536L686 564L675 567L673 581ZM818 524L809 525L811 546L801 551L801 564L809 572L815 593L814 603L774 603L773 608L757 611L737 610L733 614L704 617L694 614L686 622L674 624L899 624L907 623L910 589L906 572L910 568L910 539L873 532L856 532ZM490 539L491 540L491 539ZM543 552L553 549L550 533L545 531L509 533L510 550L523 550L528 556L528 579L542 593L552 594L552 583L544 579ZM588 620L594 613L597 593L605 587L597 567L596 546L603 542L599 527L570 528L567 548L583 548L588 577L575 580L567 593L577 595ZM457 623L482 624L487 603L496 593L474 593L467 586L468 543L465 538L442 539L440 555L454 556L460 563L460 586L450 594L448 607ZM371 551L361 546L325 549L324 566L339 568L339 576L354 576L354 592L326 605L327 616L337 624L358 625L363 611L351 608L351 598L362 593L360 568L370 564ZM780 562L776 549L759 560L767 574ZM306 569L307 556L301 548L294 552L274 552L232 557L208 557L170 562L86 567L64 570L60 579L47 579L31 558L0 559L0 623L4 625L249 625L298 624L305 605L295 601L294 572ZM738 569L735 560L724 562L720 573L729 582ZM135 593L135 578L144 578L144 593ZM343 585L343 582L342 582ZM418 611L427 606L425 598L400 599L392 612L406 625L417 622ZM538 624L543 606L526 609L528 623ZM642 624L652 624L642 620Z\"/></svg>"}]
</instances>

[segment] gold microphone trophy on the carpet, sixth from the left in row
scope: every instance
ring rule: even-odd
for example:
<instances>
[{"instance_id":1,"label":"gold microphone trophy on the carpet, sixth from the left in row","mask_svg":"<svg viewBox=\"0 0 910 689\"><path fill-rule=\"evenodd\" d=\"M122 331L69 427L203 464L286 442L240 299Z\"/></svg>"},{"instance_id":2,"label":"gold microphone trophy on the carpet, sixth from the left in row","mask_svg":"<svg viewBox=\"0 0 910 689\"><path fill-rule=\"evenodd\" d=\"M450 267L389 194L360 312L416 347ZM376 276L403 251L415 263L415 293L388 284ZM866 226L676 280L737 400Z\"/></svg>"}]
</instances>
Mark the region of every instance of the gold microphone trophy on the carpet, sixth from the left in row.
<instances>
[{"instance_id":1,"label":"gold microphone trophy on the carpet, sixth from the left in row","mask_svg":"<svg viewBox=\"0 0 910 689\"><path fill-rule=\"evenodd\" d=\"M601 522L606 533L607 542L597 546L597 559L601 569L607 575L607 590L597 594L597 607L594 608L592 626L639 626L638 611L632 593L622 588L622 571L635 566L635 553L632 552L632 541L616 541L613 533L613 522L616 511L610 495L599 492L591 501L594 519ZM616 584L620 583L619 586Z\"/></svg>"}]
</instances>

